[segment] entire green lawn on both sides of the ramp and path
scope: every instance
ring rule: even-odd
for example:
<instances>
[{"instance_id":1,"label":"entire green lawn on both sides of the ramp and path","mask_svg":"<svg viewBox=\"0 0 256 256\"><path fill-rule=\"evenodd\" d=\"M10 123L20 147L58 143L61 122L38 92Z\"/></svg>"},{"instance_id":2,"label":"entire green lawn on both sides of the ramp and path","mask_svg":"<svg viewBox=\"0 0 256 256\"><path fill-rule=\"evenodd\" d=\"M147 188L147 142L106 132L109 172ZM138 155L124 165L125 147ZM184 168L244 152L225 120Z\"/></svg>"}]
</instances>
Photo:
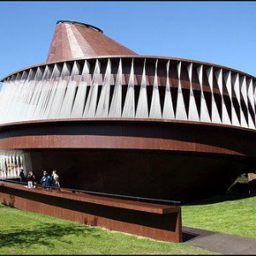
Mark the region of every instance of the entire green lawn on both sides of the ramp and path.
<instances>
[{"instance_id":1,"label":"entire green lawn on both sides of the ramp and path","mask_svg":"<svg viewBox=\"0 0 256 256\"><path fill-rule=\"evenodd\" d=\"M182 207L183 226L256 239L256 196L227 193ZM0 204L0 254L214 254ZM215 253L217 254L217 253Z\"/></svg>"}]
</instances>

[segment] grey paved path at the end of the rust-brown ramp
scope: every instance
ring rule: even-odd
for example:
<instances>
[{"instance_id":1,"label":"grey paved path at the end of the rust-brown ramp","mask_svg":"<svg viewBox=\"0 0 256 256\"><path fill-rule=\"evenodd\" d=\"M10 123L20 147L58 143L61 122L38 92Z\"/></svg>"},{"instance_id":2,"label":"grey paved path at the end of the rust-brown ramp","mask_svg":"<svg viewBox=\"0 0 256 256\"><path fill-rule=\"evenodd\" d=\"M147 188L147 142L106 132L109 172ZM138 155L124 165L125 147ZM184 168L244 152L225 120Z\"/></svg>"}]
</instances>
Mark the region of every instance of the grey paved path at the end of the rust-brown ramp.
<instances>
[{"instance_id":1,"label":"grey paved path at the end of the rust-brown ramp","mask_svg":"<svg viewBox=\"0 0 256 256\"><path fill-rule=\"evenodd\" d=\"M256 240L183 227L183 241L221 254L256 254Z\"/></svg>"}]
</instances>

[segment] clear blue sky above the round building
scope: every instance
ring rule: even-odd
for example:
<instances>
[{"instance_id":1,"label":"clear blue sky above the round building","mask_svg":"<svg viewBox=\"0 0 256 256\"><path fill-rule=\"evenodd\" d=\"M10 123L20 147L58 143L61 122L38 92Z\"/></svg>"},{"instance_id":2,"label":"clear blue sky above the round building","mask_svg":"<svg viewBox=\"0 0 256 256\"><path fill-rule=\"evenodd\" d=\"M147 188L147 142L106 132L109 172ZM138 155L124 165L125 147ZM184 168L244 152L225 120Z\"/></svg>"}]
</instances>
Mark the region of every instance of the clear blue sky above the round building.
<instances>
[{"instance_id":1,"label":"clear blue sky above the round building","mask_svg":"<svg viewBox=\"0 0 256 256\"><path fill-rule=\"evenodd\" d=\"M57 20L77 20L141 55L256 76L254 2L0 2L0 78L43 63Z\"/></svg>"}]
</instances>

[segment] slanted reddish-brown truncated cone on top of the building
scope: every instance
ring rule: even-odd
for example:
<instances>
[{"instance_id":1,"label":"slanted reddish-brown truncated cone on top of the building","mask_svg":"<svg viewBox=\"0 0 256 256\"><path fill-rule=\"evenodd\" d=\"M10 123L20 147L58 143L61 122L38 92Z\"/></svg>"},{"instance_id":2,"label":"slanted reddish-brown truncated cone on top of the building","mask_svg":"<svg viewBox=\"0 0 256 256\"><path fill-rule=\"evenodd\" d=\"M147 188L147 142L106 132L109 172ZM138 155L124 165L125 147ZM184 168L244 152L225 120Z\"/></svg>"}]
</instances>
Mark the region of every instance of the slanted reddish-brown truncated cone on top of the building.
<instances>
[{"instance_id":1,"label":"slanted reddish-brown truncated cone on top of the building","mask_svg":"<svg viewBox=\"0 0 256 256\"><path fill-rule=\"evenodd\" d=\"M59 20L46 62L69 61L103 55L137 55L105 36L101 29L77 21Z\"/></svg>"}]
</instances>

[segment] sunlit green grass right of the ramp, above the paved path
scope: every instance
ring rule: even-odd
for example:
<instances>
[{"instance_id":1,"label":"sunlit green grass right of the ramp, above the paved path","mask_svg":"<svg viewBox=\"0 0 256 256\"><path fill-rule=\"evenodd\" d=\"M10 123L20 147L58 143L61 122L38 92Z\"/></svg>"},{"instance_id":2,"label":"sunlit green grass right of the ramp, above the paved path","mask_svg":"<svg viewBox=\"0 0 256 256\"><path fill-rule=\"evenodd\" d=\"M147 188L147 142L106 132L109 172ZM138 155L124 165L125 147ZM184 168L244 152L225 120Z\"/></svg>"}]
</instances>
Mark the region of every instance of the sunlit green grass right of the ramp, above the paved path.
<instances>
[{"instance_id":1,"label":"sunlit green grass right of the ramp, above the paved path","mask_svg":"<svg viewBox=\"0 0 256 256\"><path fill-rule=\"evenodd\" d=\"M182 207L183 226L256 239L256 196L227 193Z\"/></svg>"}]
</instances>

